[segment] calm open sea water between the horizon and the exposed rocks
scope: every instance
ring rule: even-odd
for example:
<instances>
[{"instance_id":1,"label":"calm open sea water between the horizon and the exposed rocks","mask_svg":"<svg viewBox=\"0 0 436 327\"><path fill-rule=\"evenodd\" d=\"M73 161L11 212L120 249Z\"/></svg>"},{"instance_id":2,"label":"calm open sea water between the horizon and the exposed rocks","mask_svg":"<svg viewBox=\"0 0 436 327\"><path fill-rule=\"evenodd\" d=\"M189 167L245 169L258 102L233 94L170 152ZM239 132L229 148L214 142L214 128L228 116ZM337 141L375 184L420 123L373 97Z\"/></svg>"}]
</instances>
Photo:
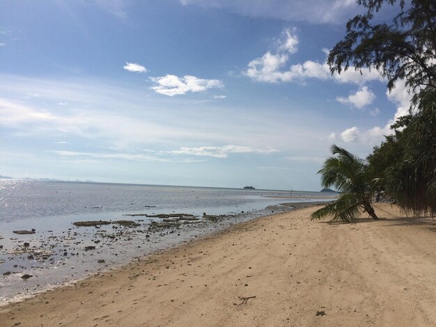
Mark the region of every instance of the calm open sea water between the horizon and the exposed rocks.
<instances>
[{"instance_id":1,"label":"calm open sea water between the horizon and the exposed rocks","mask_svg":"<svg viewBox=\"0 0 436 327\"><path fill-rule=\"evenodd\" d=\"M0 221L101 212L230 214L281 202L317 201L325 193L185 186L0 180Z\"/></svg>"}]
</instances>

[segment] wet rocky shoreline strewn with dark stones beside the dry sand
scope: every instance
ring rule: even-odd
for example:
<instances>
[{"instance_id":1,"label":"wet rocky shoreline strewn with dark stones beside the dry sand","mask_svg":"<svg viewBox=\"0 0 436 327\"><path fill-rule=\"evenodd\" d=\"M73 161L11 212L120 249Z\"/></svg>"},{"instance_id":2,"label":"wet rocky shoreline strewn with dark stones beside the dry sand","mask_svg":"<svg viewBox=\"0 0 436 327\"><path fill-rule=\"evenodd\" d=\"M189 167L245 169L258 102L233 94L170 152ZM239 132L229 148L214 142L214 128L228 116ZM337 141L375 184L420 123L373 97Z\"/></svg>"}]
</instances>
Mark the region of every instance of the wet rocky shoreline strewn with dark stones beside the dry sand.
<instances>
[{"instance_id":1,"label":"wet rocky shoreline strewn with dark stones beside the dry sand","mask_svg":"<svg viewBox=\"0 0 436 327\"><path fill-rule=\"evenodd\" d=\"M77 280L84 280L104 271L117 269L137 257L179 246L190 239L214 234L241 221L249 221L274 212L286 212L295 207L313 205L313 203L290 202L270 205L262 210L217 216L216 221L202 219L201 221L187 221L185 225L178 225L176 222L174 226L170 224L168 227L151 231L148 225L150 221L147 222L150 220L149 217L129 216L129 214L126 216L121 213L112 218L115 221L132 219L134 224L139 224L138 227L122 227L121 225L117 227L112 223L109 228L106 227L107 225L103 225L102 228L99 226L78 228L71 225L71 219L67 221L62 219L63 223L58 226L58 230L54 230L50 223L39 226L31 225L38 231L30 235L16 235L3 230L2 234L5 238L2 240L0 249L4 260L0 260L2 263L0 307L31 298L49 289L63 287ZM107 213L102 214L101 218L95 218L93 215L85 216L85 218L107 220ZM159 218L151 219L157 222L164 221ZM185 221L182 222L185 223ZM17 229L23 228L24 226ZM112 230L113 228L116 229ZM44 229L49 231L44 232ZM93 250L87 250L88 247ZM4 255L5 253L8 257ZM22 280L25 274L31 278Z\"/></svg>"}]
</instances>

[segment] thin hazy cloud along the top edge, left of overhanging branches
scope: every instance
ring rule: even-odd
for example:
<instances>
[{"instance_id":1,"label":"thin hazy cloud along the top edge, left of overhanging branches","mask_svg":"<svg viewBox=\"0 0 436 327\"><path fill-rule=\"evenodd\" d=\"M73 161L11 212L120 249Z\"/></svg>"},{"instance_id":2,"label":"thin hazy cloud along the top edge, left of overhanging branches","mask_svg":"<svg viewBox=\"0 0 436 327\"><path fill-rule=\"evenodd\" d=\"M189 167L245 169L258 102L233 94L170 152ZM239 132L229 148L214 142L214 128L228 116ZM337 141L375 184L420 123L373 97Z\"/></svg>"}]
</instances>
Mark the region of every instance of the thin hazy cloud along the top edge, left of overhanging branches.
<instances>
[{"instance_id":1,"label":"thin hazy cloud along the top edge, left of overhanging branches","mask_svg":"<svg viewBox=\"0 0 436 327\"><path fill-rule=\"evenodd\" d=\"M225 9L249 17L273 17L316 24L341 24L359 13L355 0L180 0L180 3Z\"/></svg>"}]
</instances>

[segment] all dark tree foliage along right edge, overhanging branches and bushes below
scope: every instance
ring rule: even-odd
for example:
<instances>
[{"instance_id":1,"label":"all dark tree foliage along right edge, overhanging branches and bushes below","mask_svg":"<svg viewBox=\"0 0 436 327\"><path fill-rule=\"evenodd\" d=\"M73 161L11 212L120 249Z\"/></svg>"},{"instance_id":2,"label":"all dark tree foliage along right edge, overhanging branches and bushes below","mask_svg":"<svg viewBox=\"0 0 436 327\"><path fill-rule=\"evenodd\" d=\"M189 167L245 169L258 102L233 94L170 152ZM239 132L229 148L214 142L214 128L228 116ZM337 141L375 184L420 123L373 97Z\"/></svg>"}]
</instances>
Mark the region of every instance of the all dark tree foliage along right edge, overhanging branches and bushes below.
<instances>
[{"instance_id":1,"label":"all dark tree foliage along right edge, overhanging branches and bushes below","mask_svg":"<svg viewBox=\"0 0 436 327\"><path fill-rule=\"evenodd\" d=\"M375 147L368 170L406 212L436 214L436 1L357 0L366 8L347 24L345 38L330 51L332 73L375 69L389 90L399 80L412 92L409 115L395 134ZM375 24L382 7L398 10L391 24Z\"/></svg>"}]
</instances>

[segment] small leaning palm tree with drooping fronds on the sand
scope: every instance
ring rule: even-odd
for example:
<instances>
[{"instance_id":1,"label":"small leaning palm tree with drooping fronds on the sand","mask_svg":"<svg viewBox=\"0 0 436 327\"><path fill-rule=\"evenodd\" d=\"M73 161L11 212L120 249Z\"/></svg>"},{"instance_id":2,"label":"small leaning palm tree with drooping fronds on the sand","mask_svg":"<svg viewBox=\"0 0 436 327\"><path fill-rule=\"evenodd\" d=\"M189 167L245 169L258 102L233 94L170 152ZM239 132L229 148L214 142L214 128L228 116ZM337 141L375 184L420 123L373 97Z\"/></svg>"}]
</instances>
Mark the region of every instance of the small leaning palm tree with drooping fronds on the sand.
<instances>
[{"instance_id":1,"label":"small leaning palm tree with drooping fronds on the sand","mask_svg":"<svg viewBox=\"0 0 436 327\"><path fill-rule=\"evenodd\" d=\"M318 174L321 174L323 187L334 186L341 192L341 196L313 212L311 220L333 216L331 221L350 221L361 212L367 212L373 219L378 219L371 205L376 180L371 178L366 161L343 147L332 145L330 150L337 156L327 158Z\"/></svg>"}]
</instances>

